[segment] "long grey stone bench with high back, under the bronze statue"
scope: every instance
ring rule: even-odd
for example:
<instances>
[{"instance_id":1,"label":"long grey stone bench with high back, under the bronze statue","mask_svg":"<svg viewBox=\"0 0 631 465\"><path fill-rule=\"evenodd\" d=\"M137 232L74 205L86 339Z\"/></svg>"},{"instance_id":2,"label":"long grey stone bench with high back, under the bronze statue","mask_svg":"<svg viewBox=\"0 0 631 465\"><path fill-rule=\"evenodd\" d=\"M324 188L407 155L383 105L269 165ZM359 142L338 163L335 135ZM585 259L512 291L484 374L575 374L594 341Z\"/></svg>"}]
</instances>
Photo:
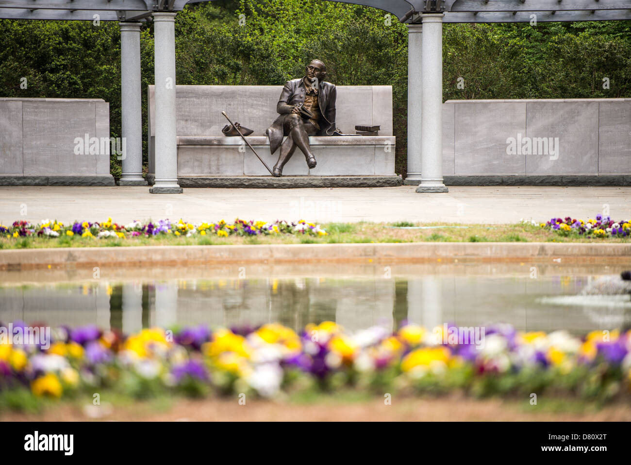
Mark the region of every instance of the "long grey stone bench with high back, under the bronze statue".
<instances>
[{"instance_id":1,"label":"long grey stone bench with high back, under the bronze statue","mask_svg":"<svg viewBox=\"0 0 631 465\"><path fill-rule=\"evenodd\" d=\"M309 169L297 150L272 178L239 136L226 137L221 128L227 120L254 130L247 141L272 167L280 153L270 154L265 130L276 119L276 102L282 86L188 86L178 85L177 170L182 187L297 187L297 186L396 186L394 173L396 138L392 135L391 86L338 86L336 126L355 134L355 125L381 126L379 136L311 136L317 166ZM148 181L155 179L155 103L149 87Z\"/></svg>"}]
</instances>

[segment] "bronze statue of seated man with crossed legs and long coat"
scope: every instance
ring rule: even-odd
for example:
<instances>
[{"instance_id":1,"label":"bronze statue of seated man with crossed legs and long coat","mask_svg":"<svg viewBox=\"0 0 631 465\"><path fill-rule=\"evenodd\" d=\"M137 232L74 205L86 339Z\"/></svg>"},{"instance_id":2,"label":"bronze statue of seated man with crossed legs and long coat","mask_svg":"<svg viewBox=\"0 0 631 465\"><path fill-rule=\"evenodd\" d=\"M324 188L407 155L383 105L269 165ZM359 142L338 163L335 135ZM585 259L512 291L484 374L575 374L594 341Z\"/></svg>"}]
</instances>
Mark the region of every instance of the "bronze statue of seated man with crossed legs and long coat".
<instances>
[{"instance_id":1,"label":"bronze statue of seated man with crossed legs and long coat","mask_svg":"<svg viewBox=\"0 0 631 465\"><path fill-rule=\"evenodd\" d=\"M324 82L325 77L324 63L313 60L307 66L304 78L285 83L276 105L276 111L280 116L266 131L271 153L274 154L281 146L280 156L272 170L274 176L283 174L283 166L292 157L296 147L300 147L305 154L307 166L314 168L316 162L309 147L309 136L333 135L337 91L333 84ZM283 136L288 138L281 145Z\"/></svg>"}]
</instances>

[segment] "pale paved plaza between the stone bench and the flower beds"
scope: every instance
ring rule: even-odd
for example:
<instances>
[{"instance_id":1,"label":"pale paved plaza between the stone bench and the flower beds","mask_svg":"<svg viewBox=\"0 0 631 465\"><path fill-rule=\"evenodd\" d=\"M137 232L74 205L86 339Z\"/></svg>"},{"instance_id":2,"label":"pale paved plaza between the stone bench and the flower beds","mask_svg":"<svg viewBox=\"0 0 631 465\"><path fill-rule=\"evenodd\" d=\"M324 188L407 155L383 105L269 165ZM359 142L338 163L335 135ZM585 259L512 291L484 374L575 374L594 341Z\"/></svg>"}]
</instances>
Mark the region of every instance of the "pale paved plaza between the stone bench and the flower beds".
<instances>
[{"instance_id":1,"label":"pale paved plaza between the stone bench and the flower beds","mask_svg":"<svg viewBox=\"0 0 631 465\"><path fill-rule=\"evenodd\" d=\"M0 223L25 219L298 220L317 222L512 223L601 212L631 217L630 187L450 186L415 193L415 186L323 189L194 189L150 194L147 187L0 186Z\"/></svg>"}]
</instances>

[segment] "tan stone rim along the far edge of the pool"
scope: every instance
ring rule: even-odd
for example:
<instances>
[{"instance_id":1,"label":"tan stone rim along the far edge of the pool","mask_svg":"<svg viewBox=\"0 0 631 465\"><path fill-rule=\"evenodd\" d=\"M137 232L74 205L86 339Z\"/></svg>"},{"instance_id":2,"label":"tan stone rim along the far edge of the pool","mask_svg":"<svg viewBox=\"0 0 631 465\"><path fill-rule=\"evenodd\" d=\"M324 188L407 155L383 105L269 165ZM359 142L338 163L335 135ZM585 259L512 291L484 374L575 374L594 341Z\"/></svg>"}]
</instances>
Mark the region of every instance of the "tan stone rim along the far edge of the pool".
<instances>
[{"instance_id":1,"label":"tan stone rim along the far edge of the pool","mask_svg":"<svg viewBox=\"0 0 631 465\"><path fill-rule=\"evenodd\" d=\"M631 244L355 243L0 250L0 270L230 263L629 263Z\"/></svg>"}]
</instances>

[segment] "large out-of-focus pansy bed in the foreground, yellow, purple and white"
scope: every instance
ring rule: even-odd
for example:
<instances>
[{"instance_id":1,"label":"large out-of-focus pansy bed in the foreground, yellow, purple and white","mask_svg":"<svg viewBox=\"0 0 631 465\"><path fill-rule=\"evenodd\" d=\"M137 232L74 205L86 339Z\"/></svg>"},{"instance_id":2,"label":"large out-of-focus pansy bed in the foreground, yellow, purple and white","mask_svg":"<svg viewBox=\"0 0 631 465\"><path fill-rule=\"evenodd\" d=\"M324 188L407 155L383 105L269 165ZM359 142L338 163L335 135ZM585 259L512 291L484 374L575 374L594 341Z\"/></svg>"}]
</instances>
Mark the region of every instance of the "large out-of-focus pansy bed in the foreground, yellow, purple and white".
<instances>
[{"instance_id":1,"label":"large out-of-focus pansy bed in the foreground, yellow, purple and white","mask_svg":"<svg viewBox=\"0 0 631 465\"><path fill-rule=\"evenodd\" d=\"M20 326L13 323L14 329ZM153 328L126 337L92 326L61 328L47 349L0 344L0 409L101 390L138 399L278 397L336 389L380 396L457 390L472 396L546 392L599 402L631 399L631 330L579 338L565 331L522 333L495 325L475 344L458 344L458 339L452 344L445 330L452 327L428 331L404 325L394 333L371 327L350 334L322 322L297 334L271 323L173 332Z\"/></svg>"}]
</instances>

